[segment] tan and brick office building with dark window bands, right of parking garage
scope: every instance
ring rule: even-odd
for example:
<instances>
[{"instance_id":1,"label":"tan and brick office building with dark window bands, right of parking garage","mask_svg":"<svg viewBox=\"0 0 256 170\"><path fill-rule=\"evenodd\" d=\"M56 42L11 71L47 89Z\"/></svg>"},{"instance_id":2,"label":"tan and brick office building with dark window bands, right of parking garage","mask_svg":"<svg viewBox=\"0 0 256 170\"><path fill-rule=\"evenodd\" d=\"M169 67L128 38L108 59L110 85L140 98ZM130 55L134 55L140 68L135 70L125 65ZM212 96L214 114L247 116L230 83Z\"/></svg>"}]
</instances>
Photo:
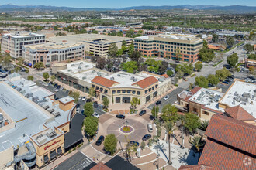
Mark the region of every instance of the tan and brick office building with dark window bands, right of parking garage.
<instances>
[{"instance_id":1,"label":"tan and brick office building with dark window bands, right of parking garage","mask_svg":"<svg viewBox=\"0 0 256 170\"><path fill-rule=\"evenodd\" d=\"M134 49L143 56L159 56L189 63L199 59L202 39L194 35L161 34L134 39ZM179 54L177 56L177 53Z\"/></svg>"}]
</instances>

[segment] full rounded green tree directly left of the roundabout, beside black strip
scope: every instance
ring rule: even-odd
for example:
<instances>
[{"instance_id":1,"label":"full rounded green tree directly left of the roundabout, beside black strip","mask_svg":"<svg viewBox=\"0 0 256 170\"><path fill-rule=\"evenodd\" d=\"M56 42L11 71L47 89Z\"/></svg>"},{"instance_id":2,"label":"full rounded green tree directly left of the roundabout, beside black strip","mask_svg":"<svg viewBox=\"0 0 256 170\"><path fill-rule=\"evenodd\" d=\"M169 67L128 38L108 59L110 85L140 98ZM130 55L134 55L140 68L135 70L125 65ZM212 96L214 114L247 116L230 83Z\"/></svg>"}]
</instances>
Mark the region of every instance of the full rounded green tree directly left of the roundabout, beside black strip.
<instances>
[{"instance_id":1,"label":"full rounded green tree directly left of the roundabout, beside black strip","mask_svg":"<svg viewBox=\"0 0 256 170\"><path fill-rule=\"evenodd\" d=\"M84 121L85 133L92 137L98 130L99 119L97 117L86 117Z\"/></svg>"}]
</instances>

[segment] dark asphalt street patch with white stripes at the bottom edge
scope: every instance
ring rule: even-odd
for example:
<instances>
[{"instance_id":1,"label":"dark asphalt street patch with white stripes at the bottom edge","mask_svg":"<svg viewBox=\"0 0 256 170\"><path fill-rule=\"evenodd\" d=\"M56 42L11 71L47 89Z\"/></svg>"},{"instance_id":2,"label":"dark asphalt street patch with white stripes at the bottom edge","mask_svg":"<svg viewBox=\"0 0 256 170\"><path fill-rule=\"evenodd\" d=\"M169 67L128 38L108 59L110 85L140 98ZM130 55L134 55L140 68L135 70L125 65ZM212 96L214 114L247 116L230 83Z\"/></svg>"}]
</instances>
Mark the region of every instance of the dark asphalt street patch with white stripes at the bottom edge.
<instances>
[{"instance_id":1,"label":"dark asphalt street patch with white stripes at the bottom edge","mask_svg":"<svg viewBox=\"0 0 256 170\"><path fill-rule=\"evenodd\" d=\"M79 151L75 155L71 156L71 158L68 158L66 161L54 168L54 170L89 170L95 165L95 162L92 162L90 158Z\"/></svg>"}]
</instances>

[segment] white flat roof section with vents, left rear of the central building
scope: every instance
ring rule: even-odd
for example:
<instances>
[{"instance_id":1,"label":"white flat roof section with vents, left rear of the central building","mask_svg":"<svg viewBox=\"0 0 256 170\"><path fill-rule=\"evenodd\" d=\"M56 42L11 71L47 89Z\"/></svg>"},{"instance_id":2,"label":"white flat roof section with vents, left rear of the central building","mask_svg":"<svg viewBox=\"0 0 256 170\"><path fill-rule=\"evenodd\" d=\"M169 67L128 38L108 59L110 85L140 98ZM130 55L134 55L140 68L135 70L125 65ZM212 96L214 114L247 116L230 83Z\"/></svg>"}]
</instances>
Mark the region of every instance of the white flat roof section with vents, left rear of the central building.
<instances>
[{"instance_id":1,"label":"white flat roof section with vents, left rear of the central building","mask_svg":"<svg viewBox=\"0 0 256 170\"><path fill-rule=\"evenodd\" d=\"M90 70L93 67L95 67L95 63L78 61L78 62L67 63L67 69L61 70L60 72L73 74L73 73L78 73L85 70Z\"/></svg>"}]
</instances>

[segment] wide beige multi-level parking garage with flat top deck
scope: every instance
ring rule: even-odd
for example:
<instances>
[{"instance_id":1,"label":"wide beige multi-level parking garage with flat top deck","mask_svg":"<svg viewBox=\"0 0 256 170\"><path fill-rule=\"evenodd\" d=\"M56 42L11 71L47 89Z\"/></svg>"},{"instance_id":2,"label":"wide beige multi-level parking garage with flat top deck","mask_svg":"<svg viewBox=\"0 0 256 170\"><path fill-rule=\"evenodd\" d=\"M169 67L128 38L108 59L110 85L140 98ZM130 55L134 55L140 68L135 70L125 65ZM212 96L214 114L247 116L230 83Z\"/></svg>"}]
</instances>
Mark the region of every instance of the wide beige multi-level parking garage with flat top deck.
<instances>
[{"instance_id":1,"label":"wide beige multi-level parking garage with flat top deck","mask_svg":"<svg viewBox=\"0 0 256 170\"><path fill-rule=\"evenodd\" d=\"M106 36L99 34L77 34L69 36L57 36L47 39L47 42L62 43L73 42L85 45L85 51L93 53L95 56L108 56L109 46L115 43L118 49L122 47L122 42L129 46L133 41L131 38L119 36Z\"/></svg>"}]
</instances>

